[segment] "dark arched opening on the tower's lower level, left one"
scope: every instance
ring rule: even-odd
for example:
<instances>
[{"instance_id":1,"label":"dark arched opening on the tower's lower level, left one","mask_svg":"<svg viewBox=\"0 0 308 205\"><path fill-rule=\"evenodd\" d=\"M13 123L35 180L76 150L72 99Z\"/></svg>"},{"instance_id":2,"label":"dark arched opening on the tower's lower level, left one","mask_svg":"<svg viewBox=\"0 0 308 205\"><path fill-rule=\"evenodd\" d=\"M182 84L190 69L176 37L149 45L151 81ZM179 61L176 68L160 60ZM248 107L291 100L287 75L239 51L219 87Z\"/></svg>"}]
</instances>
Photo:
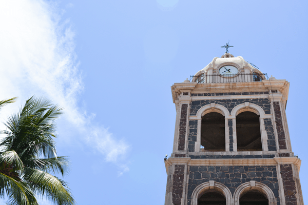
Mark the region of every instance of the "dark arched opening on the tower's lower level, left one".
<instances>
[{"instance_id":1,"label":"dark arched opening on the tower's lower level, left one","mask_svg":"<svg viewBox=\"0 0 308 205\"><path fill-rule=\"evenodd\" d=\"M208 190L199 199L198 205L225 205L226 198L216 190Z\"/></svg>"}]
</instances>

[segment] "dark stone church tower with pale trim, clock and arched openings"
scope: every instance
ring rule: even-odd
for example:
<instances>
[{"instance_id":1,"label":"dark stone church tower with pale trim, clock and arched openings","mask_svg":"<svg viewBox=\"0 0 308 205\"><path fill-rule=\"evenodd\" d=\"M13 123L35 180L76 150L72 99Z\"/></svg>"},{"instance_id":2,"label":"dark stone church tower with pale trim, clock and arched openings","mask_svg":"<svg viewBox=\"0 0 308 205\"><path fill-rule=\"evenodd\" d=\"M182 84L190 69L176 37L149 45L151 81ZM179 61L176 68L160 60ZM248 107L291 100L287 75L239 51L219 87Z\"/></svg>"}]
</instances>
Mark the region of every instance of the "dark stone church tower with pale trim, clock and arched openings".
<instances>
[{"instance_id":1,"label":"dark stone church tower with pale trim, clock and arched openings","mask_svg":"<svg viewBox=\"0 0 308 205\"><path fill-rule=\"evenodd\" d=\"M285 108L290 83L226 52L171 87L165 205L303 205Z\"/></svg>"}]
</instances>

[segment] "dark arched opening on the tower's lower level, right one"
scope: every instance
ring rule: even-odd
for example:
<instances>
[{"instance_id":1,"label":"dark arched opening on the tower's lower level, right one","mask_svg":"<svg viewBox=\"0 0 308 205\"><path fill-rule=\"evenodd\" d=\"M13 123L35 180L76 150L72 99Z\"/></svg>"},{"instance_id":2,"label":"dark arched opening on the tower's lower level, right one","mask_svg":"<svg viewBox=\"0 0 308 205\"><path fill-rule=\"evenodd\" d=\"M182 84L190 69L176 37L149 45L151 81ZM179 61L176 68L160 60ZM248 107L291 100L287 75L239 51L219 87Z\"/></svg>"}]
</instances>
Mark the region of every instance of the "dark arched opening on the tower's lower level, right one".
<instances>
[{"instance_id":1,"label":"dark arched opening on the tower's lower level, right one","mask_svg":"<svg viewBox=\"0 0 308 205\"><path fill-rule=\"evenodd\" d=\"M249 191L240 198L240 205L268 205L268 199L257 191Z\"/></svg>"}]
</instances>

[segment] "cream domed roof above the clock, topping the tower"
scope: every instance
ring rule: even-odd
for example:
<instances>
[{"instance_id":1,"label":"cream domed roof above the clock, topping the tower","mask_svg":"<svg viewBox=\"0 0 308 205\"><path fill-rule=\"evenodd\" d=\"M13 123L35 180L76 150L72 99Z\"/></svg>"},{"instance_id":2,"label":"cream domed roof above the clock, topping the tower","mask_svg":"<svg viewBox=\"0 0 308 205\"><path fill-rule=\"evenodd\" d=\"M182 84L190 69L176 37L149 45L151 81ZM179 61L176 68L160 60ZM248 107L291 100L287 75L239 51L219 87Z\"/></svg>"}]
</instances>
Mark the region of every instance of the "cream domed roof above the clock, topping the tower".
<instances>
[{"instance_id":1,"label":"cream domed roof above the clock, topping the tower","mask_svg":"<svg viewBox=\"0 0 308 205\"><path fill-rule=\"evenodd\" d=\"M244 60L244 58L242 56L234 57L234 55L232 55L230 53L225 53L220 58L215 57L207 66L205 66L203 69L198 71L195 74L195 76L199 75L201 73L206 73L209 68L211 68L213 70L218 70L223 65L233 65L233 66L236 66L240 69L244 68L244 66L245 66L245 68L248 68L249 70L251 70L251 72L258 71L258 69L254 68L246 60ZM259 72L261 72L261 71L259 71Z\"/></svg>"}]
</instances>

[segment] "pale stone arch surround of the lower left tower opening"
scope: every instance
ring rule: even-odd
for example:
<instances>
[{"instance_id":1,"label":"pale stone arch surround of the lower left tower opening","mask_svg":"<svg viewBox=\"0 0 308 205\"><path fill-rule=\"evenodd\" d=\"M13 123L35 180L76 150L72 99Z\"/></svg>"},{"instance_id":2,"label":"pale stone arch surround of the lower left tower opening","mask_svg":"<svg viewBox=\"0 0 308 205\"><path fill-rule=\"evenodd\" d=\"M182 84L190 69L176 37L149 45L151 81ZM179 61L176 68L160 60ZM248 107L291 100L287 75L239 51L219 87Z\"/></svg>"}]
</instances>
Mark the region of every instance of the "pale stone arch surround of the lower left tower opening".
<instances>
[{"instance_id":1,"label":"pale stone arch surround of the lower left tower opening","mask_svg":"<svg viewBox=\"0 0 308 205\"><path fill-rule=\"evenodd\" d=\"M191 205L198 205L198 198L207 190L215 190L221 193L226 198L226 204L233 205L232 193L222 183L216 181L207 181L201 183L191 194Z\"/></svg>"}]
</instances>

